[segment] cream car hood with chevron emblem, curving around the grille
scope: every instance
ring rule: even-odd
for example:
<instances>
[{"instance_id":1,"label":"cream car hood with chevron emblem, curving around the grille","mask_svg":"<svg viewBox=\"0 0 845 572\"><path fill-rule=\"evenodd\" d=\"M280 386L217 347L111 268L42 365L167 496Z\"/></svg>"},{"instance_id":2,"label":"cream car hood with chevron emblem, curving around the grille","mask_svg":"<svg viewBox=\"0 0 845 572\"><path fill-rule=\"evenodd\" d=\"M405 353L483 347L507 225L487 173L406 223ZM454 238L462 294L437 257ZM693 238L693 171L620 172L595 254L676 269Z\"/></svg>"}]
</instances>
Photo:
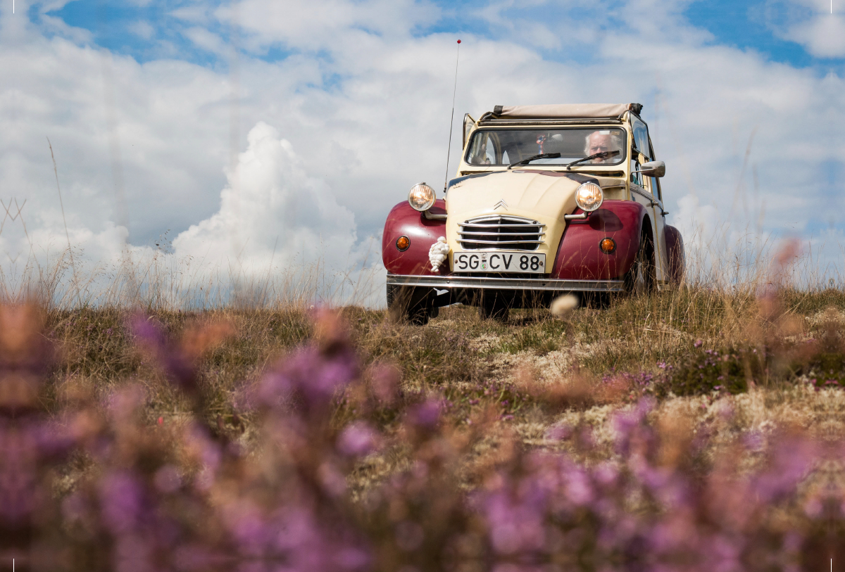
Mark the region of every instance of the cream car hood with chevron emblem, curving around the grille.
<instances>
[{"instance_id":1,"label":"cream car hood with chevron emblem, curving around the grille","mask_svg":"<svg viewBox=\"0 0 845 572\"><path fill-rule=\"evenodd\" d=\"M457 242L459 224L475 217L509 214L546 225L545 242L537 251L547 254L547 267L551 270L565 228L564 214L575 211L575 190L586 181L597 182L576 173L529 169L455 179L446 195L446 240L451 251L463 250Z\"/></svg>"}]
</instances>

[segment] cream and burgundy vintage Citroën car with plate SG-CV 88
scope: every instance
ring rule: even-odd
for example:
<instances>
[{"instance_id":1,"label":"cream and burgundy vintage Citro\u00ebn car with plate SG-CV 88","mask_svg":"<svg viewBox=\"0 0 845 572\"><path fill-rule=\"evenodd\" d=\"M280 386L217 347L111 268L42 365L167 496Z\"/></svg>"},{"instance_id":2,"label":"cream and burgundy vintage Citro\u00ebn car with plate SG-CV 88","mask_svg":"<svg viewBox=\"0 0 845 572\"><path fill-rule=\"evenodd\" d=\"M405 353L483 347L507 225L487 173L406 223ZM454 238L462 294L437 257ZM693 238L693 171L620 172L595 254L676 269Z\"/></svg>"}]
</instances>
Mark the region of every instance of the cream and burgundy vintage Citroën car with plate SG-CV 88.
<instances>
[{"instance_id":1,"label":"cream and burgundy vintage Citro\u00ebn car with plate SG-CV 88","mask_svg":"<svg viewBox=\"0 0 845 572\"><path fill-rule=\"evenodd\" d=\"M421 183L384 224L387 301L416 323L444 305L482 316L571 292L603 298L678 283L642 105L499 106L464 118L455 179Z\"/></svg>"}]
</instances>

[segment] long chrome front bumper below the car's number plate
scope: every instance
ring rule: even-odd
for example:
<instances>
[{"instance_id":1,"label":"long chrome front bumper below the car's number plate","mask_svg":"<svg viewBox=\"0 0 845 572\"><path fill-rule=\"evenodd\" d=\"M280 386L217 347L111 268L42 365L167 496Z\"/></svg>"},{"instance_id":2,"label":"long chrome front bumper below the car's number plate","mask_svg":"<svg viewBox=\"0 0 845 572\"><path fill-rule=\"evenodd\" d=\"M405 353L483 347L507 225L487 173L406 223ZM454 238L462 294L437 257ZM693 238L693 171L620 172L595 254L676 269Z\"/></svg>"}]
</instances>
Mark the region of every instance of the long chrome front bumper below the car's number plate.
<instances>
[{"instance_id":1,"label":"long chrome front bumper below the car's number plate","mask_svg":"<svg viewBox=\"0 0 845 572\"><path fill-rule=\"evenodd\" d=\"M475 276L405 276L388 274L395 286L455 291L499 290L531 292L624 292L622 280L561 280L559 278L489 278Z\"/></svg>"}]
</instances>

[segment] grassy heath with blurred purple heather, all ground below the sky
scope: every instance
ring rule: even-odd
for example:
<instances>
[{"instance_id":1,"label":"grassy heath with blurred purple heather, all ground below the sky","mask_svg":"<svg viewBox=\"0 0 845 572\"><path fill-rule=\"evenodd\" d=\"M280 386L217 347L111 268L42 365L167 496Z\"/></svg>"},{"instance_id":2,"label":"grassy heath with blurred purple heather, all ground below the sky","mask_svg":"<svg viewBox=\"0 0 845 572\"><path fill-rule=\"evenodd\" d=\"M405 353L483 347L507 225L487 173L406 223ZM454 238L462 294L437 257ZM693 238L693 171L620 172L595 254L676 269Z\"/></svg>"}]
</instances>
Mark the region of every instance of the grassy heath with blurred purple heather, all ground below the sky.
<instances>
[{"instance_id":1,"label":"grassy heath with blurred purple heather, all ground below the sky","mask_svg":"<svg viewBox=\"0 0 845 572\"><path fill-rule=\"evenodd\" d=\"M453 306L428 326L302 302L5 306L0 494L38 500L0 505L0 552L51 570L829 568L845 293L776 285L506 322Z\"/></svg>"}]
</instances>

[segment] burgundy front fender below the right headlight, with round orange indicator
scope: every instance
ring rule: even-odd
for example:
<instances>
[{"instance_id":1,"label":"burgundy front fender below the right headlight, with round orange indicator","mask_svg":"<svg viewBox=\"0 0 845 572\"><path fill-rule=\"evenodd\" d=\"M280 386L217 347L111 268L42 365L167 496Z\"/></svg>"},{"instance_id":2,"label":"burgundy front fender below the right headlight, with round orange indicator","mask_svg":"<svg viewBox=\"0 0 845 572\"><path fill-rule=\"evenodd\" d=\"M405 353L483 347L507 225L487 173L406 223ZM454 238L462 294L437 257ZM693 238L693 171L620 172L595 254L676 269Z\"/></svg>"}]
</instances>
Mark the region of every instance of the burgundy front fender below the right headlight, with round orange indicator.
<instances>
[{"instance_id":1,"label":"burgundy front fender below the right headlight, with round orange indicator","mask_svg":"<svg viewBox=\"0 0 845 572\"><path fill-rule=\"evenodd\" d=\"M575 213L581 213L577 209ZM640 248L646 208L639 202L608 200L586 220L573 220L564 230L551 278L613 280L622 278ZM616 250L605 254L602 239L611 238Z\"/></svg>"}]
</instances>

